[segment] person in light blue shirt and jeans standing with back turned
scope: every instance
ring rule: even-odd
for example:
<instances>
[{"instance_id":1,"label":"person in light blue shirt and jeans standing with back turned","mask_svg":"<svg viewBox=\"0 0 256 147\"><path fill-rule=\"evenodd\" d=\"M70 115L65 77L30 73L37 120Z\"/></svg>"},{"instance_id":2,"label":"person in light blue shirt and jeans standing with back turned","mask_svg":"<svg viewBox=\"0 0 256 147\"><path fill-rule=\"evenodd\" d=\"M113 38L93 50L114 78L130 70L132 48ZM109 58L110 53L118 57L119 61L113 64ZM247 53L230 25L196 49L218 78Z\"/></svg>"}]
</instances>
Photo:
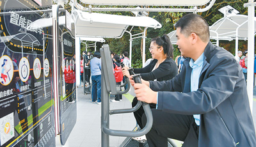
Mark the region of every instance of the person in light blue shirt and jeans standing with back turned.
<instances>
[{"instance_id":1,"label":"person in light blue shirt and jeans standing with back turned","mask_svg":"<svg viewBox=\"0 0 256 147\"><path fill-rule=\"evenodd\" d=\"M94 58L90 61L90 65L92 73L92 102L101 104L101 59L99 51L94 53Z\"/></svg>"}]
</instances>

